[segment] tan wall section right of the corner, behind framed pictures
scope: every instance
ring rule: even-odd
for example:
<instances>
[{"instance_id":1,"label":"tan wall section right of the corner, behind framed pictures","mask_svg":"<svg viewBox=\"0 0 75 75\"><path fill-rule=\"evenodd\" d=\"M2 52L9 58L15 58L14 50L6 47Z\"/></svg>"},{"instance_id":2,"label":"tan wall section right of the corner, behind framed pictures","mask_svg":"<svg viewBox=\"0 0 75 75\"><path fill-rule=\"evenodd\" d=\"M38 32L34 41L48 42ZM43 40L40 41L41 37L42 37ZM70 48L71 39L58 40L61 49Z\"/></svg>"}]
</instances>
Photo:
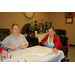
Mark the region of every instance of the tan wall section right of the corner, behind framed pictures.
<instances>
[{"instance_id":1,"label":"tan wall section right of the corner, behind framed pictures","mask_svg":"<svg viewBox=\"0 0 75 75\"><path fill-rule=\"evenodd\" d=\"M55 29L65 29L69 43L75 45L75 17L72 24L66 24L65 12L50 12L50 22Z\"/></svg>"}]
</instances>

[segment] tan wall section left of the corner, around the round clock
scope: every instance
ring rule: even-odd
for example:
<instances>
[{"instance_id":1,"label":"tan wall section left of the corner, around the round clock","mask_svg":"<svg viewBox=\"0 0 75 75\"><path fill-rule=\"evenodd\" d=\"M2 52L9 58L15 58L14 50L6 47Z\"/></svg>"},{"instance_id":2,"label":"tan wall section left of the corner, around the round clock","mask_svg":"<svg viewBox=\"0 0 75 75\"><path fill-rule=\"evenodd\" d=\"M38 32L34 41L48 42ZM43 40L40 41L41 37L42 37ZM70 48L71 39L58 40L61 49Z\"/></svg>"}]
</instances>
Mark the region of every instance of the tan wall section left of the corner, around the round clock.
<instances>
[{"instance_id":1,"label":"tan wall section left of the corner, around the round clock","mask_svg":"<svg viewBox=\"0 0 75 75\"><path fill-rule=\"evenodd\" d=\"M26 23L31 23L37 20L37 24L43 19L44 22L49 22L50 13L49 12L35 12L35 15L31 19L27 19L23 12L0 12L0 28L9 28L13 23L18 23L20 25L20 31Z\"/></svg>"}]
</instances>

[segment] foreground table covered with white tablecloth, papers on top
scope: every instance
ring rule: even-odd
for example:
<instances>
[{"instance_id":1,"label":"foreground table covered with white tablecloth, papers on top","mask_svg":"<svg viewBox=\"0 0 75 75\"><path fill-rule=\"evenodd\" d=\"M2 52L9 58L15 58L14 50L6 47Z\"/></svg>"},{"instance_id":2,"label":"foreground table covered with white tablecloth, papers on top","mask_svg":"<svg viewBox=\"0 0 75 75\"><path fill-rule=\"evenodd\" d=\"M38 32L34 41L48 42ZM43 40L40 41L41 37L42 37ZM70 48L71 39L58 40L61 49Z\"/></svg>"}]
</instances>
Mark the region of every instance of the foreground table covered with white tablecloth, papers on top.
<instances>
[{"instance_id":1,"label":"foreground table covered with white tablecloth, papers on top","mask_svg":"<svg viewBox=\"0 0 75 75\"><path fill-rule=\"evenodd\" d=\"M8 58L4 58L4 62L61 62L61 59L64 58L64 53L58 50L57 54L50 54L51 51L51 48L44 46L29 47L23 50L9 52ZM41 53L42 56L36 55L38 53Z\"/></svg>"}]
</instances>

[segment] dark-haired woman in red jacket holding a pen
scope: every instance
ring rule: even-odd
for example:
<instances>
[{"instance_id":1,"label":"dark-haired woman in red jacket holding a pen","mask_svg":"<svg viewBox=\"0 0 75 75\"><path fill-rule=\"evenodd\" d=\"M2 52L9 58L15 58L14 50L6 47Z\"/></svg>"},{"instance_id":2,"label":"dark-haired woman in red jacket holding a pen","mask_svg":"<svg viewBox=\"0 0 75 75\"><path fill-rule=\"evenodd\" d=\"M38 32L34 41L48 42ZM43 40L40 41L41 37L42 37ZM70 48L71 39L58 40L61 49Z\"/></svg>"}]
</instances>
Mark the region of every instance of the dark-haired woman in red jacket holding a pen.
<instances>
[{"instance_id":1,"label":"dark-haired woman in red jacket holding a pen","mask_svg":"<svg viewBox=\"0 0 75 75\"><path fill-rule=\"evenodd\" d=\"M41 44L45 47L52 48L52 52L58 53L58 49L61 49L62 44L60 38L55 34L54 28L50 27L48 34L42 39Z\"/></svg>"}]
</instances>

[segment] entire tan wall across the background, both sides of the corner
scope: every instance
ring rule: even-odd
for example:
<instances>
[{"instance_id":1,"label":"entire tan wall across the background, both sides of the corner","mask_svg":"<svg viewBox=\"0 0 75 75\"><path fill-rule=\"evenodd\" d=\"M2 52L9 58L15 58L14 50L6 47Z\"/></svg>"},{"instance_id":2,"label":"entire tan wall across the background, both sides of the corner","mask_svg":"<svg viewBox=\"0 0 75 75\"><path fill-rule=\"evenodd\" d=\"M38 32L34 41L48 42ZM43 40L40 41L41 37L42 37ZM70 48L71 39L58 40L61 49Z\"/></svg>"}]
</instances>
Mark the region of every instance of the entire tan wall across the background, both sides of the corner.
<instances>
[{"instance_id":1,"label":"entire tan wall across the background, both sides of the corner","mask_svg":"<svg viewBox=\"0 0 75 75\"><path fill-rule=\"evenodd\" d=\"M20 31L26 23L31 23L37 20L37 24L43 19L44 22L52 22L55 29L65 29L67 31L67 37L69 43L75 45L75 17L73 18L73 24L65 23L65 12L35 12L32 19L27 19L23 12L0 12L0 28L9 28L13 23L20 25Z\"/></svg>"}]
</instances>

